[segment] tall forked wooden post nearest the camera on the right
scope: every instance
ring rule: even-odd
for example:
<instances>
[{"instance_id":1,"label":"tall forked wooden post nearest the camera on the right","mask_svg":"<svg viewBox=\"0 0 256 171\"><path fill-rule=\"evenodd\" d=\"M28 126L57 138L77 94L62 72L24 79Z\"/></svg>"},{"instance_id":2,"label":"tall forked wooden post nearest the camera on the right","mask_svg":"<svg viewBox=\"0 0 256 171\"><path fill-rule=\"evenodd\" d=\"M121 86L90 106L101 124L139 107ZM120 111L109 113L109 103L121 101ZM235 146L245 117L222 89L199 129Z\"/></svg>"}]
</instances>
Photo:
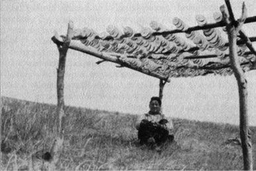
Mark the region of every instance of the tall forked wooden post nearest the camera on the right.
<instances>
[{"instance_id":1,"label":"tall forked wooden post nearest the camera on the right","mask_svg":"<svg viewBox=\"0 0 256 171\"><path fill-rule=\"evenodd\" d=\"M241 29L241 25L244 22L244 18L246 17L246 8L243 3L242 16L239 19L239 22L234 20L234 14L231 9L230 1L225 0L226 5L228 7L228 12L226 11L226 7L222 5L220 7L220 11L222 11L222 15L226 19L226 28L228 32L228 40L230 42L230 64L232 66L232 70L234 72L235 78L238 84L239 91L239 112L240 112L240 137L241 137L241 147L243 149L243 169L244 170L253 170L253 153L252 153L252 145L251 145L251 132L248 126L248 115L247 115L247 81L245 79L245 75L243 74L243 70L239 65L238 57L237 57L237 45L236 38L239 30Z\"/></svg>"}]
</instances>

